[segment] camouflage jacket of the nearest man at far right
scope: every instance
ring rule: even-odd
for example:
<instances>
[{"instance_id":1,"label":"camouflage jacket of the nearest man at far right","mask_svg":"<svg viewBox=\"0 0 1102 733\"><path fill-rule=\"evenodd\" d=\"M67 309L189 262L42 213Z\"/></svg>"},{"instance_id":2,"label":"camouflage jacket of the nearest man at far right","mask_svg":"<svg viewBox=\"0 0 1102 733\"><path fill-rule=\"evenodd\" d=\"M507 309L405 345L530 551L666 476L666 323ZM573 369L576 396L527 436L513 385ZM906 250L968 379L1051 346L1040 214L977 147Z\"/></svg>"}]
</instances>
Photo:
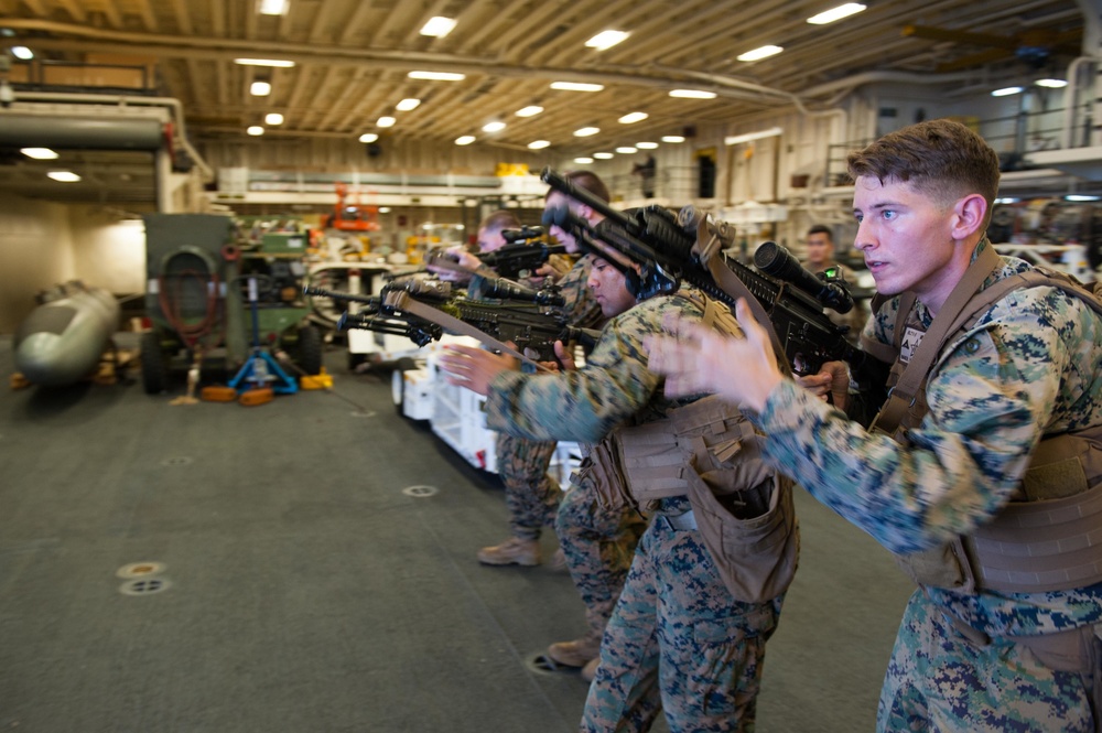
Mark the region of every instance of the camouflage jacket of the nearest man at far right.
<instances>
[{"instance_id":1,"label":"camouflage jacket of the nearest man at far right","mask_svg":"<svg viewBox=\"0 0 1102 733\"><path fill-rule=\"evenodd\" d=\"M984 287L1029 269L1002 259ZM894 298L869 319L865 337L892 344L898 304ZM929 327L929 311L915 308L911 319ZM1059 289L1013 291L947 343L926 398L929 412L908 433L907 448L869 434L792 381L752 419L769 435L767 461L815 498L893 552L925 550L998 514L1042 435L1102 424L1102 321ZM1035 594L929 593L992 636L1102 622L1102 584Z\"/></svg>"}]
</instances>

